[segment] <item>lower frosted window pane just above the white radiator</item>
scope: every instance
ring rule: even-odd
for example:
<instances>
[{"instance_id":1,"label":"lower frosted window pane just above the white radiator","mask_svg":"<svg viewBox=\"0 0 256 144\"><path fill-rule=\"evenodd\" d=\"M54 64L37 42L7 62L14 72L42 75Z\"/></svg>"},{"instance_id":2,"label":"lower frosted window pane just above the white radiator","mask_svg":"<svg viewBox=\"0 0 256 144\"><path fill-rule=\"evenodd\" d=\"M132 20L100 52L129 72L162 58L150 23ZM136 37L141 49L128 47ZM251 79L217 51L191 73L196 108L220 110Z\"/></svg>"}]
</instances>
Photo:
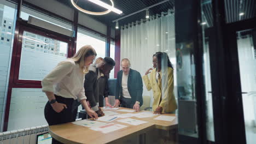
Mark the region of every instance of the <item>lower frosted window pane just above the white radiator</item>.
<instances>
[{"instance_id":1,"label":"lower frosted window pane just above the white radiator","mask_svg":"<svg viewBox=\"0 0 256 144\"><path fill-rule=\"evenodd\" d=\"M44 106L48 99L41 88L12 88L11 91L13 110L9 113L8 131L47 124Z\"/></svg>"}]
</instances>

